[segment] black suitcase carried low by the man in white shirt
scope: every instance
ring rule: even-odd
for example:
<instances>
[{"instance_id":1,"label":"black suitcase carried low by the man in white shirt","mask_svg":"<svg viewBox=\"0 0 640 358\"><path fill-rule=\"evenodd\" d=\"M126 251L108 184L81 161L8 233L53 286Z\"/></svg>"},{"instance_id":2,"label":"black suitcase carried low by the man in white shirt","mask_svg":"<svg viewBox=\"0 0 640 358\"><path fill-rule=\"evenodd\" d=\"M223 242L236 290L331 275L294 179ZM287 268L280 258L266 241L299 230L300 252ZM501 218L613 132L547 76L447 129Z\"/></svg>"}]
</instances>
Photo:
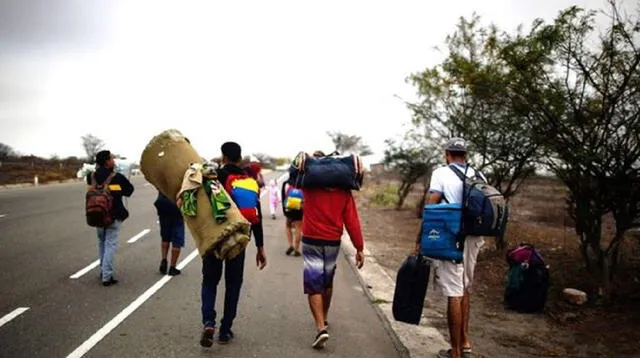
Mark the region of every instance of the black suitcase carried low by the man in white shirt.
<instances>
[{"instance_id":1,"label":"black suitcase carried low by the man in white shirt","mask_svg":"<svg viewBox=\"0 0 640 358\"><path fill-rule=\"evenodd\" d=\"M430 271L429 261L422 255L410 255L402 263L393 294L392 310L396 321L420 324Z\"/></svg>"}]
</instances>

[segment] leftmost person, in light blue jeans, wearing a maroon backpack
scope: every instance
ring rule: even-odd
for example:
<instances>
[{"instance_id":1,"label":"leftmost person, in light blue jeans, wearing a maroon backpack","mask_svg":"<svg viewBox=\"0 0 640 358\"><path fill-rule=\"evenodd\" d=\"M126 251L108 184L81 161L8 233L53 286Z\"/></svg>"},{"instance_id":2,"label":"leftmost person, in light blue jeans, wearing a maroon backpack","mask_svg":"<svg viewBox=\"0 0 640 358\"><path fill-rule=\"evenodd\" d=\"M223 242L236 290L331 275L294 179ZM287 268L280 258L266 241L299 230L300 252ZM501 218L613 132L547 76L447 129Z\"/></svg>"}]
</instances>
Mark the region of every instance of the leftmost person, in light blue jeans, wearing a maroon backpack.
<instances>
[{"instance_id":1,"label":"leftmost person, in light blue jeans, wearing a maroon backpack","mask_svg":"<svg viewBox=\"0 0 640 358\"><path fill-rule=\"evenodd\" d=\"M118 283L114 275L113 260L118 250L120 226L129 217L129 211L122 203L122 197L133 194L133 185L122 174L116 173L115 156L108 150L96 154L96 171L87 175L88 190L96 186L106 186L113 201L111 212L113 223L107 227L98 227L98 258L100 259L100 279L102 285L109 287Z\"/></svg>"}]
</instances>

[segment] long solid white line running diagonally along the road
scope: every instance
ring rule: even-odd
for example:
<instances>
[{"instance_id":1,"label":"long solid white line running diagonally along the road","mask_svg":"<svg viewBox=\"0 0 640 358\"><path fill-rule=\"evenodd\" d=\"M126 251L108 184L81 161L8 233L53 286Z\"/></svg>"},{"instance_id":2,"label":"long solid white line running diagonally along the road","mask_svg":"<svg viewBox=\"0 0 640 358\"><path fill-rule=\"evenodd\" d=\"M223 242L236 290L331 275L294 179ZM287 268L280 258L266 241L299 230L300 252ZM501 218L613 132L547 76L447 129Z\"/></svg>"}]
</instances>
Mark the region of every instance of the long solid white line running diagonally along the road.
<instances>
[{"instance_id":1,"label":"long solid white line running diagonally along the road","mask_svg":"<svg viewBox=\"0 0 640 358\"><path fill-rule=\"evenodd\" d=\"M178 269L181 270L185 268L191 260L193 260L196 256L198 256L198 250L193 250L189 256L185 257L180 264L178 264ZM163 276L158 282L156 282L153 286L147 289L140 297L136 298L135 301L131 302L124 310L118 313L115 317L111 319L111 321L107 322L102 328L100 328L96 333L94 333L89 339L87 339L84 343L82 343L78 348L76 348L73 352L71 352L67 358L80 358L85 355L87 352L91 350L91 348L95 347L104 337L106 337L111 331L113 331L120 323L122 323L127 317L129 317L136 309L142 306L153 294L158 292L162 286L166 285L174 276Z\"/></svg>"}]
</instances>

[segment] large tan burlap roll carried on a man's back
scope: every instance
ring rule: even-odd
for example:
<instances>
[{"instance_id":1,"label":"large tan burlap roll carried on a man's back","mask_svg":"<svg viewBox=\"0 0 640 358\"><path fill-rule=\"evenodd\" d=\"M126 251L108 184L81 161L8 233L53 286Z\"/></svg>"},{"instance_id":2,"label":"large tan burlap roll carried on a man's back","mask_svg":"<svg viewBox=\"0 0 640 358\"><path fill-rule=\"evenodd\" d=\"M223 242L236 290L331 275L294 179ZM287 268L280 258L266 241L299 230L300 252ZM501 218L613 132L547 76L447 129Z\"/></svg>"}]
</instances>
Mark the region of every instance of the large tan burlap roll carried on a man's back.
<instances>
[{"instance_id":1,"label":"large tan burlap roll carried on a man's back","mask_svg":"<svg viewBox=\"0 0 640 358\"><path fill-rule=\"evenodd\" d=\"M147 181L175 202L185 172L202 157L178 130L171 129L153 137L142 152L140 170ZM197 215L183 215L200 256L212 252L220 259L230 259L244 250L250 241L251 225L231 201L227 221L218 223L211 202L203 188L197 193Z\"/></svg>"}]
</instances>

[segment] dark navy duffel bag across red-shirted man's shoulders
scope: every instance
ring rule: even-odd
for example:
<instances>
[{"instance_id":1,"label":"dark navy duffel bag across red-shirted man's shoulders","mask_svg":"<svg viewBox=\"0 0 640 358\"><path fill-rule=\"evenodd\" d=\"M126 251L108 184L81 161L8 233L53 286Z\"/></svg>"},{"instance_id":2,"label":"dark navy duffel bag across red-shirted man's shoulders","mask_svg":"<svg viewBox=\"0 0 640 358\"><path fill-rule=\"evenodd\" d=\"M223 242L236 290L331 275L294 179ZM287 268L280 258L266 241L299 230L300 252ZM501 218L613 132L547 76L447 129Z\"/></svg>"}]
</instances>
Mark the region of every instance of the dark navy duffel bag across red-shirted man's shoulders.
<instances>
[{"instance_id":1,"label":"dark navy duffel bag across red-shirted man's shoulders","mask_svg":"<svg viewBox=\"0 0 640 358\"><path fill-rule=\"evenodd\" d=\"M364 168L360 156L337 152L314 158L300 152L289 167L290 182L297 188L341 188L360 190Z\"/></svg>"}]
</instances>

